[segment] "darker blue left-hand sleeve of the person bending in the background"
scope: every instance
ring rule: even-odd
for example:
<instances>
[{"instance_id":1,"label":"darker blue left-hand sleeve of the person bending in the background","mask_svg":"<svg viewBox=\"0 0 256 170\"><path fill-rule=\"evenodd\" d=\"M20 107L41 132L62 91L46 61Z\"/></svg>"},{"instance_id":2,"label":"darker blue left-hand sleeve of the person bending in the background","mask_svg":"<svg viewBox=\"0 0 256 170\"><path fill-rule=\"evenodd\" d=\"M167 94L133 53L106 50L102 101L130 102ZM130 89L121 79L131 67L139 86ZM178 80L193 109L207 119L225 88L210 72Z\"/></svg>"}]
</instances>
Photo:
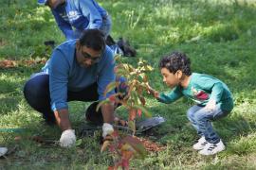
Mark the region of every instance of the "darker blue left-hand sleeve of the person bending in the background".
<instances>
[{"instance_id":1,"label":"darker blue left-hand sleeve of the person bending in the background","mask_svg":"<svg viewBox=\"0 0 256 170\"><path fill-rule=\"evenodd\" d=\"M68 22L64 21L64 19L55 10L51 10L51 12L59 28L63 31L66 40L76 39L72 26Z\"/></svg>"}]
</instances>

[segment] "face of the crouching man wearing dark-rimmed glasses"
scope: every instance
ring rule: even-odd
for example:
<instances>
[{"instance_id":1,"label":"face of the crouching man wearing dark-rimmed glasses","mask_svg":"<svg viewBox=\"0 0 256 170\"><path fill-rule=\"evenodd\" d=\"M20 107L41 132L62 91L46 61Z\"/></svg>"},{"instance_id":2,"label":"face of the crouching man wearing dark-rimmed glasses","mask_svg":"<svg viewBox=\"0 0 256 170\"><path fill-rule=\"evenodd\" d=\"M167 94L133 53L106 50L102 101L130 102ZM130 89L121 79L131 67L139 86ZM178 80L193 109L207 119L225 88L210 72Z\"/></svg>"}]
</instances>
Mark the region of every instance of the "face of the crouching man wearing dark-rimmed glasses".
<instances>
[{"instance_id":1,"label":"face of the crouching man wearing dark-rimmed glasses","mask_svg":"<svg viewBox=\"0 0 256 170\"><path fill-rule=\"evenodd\" d=\"M90 67L101 60L101 51L95 51L80 42L76 44L76 58L82 67Z\"/></svg>"}]
</instances>

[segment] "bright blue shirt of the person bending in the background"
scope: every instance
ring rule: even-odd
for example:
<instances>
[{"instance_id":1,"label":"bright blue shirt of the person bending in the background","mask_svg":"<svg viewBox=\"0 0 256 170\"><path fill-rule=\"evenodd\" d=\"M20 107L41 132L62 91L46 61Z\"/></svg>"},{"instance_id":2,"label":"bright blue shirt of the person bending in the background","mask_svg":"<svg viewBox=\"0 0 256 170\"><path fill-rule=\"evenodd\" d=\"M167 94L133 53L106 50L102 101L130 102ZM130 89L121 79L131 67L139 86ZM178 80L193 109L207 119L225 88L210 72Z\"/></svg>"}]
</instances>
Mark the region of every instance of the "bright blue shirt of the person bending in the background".
<instances>
[{"instance_id":1,"label":"bright blue shirt of the person bending in the background","mask_svg":"<svg viewBox=\"0 0 256 170\"><path fill-rule=\"evenodd\" d=\"M78 38L76 31L100 28L102 17L107 15L104 8L94 0L66 0L65 4L51 10L67 40Z\"/></svg>"}]
</instances>

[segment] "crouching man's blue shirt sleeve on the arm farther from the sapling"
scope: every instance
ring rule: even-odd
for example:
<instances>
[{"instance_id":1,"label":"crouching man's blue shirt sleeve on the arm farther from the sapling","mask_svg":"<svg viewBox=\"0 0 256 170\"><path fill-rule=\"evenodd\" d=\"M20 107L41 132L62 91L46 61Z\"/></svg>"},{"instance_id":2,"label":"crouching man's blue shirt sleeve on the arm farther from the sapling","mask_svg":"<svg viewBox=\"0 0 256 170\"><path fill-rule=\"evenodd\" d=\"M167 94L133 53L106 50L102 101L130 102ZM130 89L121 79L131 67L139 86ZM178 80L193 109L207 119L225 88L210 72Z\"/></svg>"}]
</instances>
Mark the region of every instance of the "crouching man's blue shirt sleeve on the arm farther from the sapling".
<instances>
[{"instance_id":1,"label":"crouching man's blue shirt sleeve on the arm farther from the sapling","mask_svg":"<svg viewBox=\"0 0 256 170\"><path fill-rule=\"evenodd\" d=\"M49 65L49 91L51 110L67 109L67 79L69 64L64 54L55 50Z\"/></svg>"}]
</instances>

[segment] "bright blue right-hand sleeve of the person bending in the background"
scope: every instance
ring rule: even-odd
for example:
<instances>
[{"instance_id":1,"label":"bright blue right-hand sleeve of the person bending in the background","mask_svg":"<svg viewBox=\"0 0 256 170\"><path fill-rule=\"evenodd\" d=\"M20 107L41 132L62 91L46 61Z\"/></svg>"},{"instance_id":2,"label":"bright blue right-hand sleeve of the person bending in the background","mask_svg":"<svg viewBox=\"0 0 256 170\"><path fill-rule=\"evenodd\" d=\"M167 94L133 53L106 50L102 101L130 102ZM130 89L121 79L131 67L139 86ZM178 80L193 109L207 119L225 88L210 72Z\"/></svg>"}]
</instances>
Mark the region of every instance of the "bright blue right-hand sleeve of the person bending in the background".
<instances>
[{"instance_id":1,"label":"bright blue right-hand sleeve of the person bending in the background","mask_svg":"<svg viewBox=\"0 0 256 170\"><path fill-rule=\"evenodd\" d=\"M102 25L102 17L98 8L95 7L92 1L80 1L83 16L89 19L87 29L100 28Z\"/></svg>"}]
</instances>

